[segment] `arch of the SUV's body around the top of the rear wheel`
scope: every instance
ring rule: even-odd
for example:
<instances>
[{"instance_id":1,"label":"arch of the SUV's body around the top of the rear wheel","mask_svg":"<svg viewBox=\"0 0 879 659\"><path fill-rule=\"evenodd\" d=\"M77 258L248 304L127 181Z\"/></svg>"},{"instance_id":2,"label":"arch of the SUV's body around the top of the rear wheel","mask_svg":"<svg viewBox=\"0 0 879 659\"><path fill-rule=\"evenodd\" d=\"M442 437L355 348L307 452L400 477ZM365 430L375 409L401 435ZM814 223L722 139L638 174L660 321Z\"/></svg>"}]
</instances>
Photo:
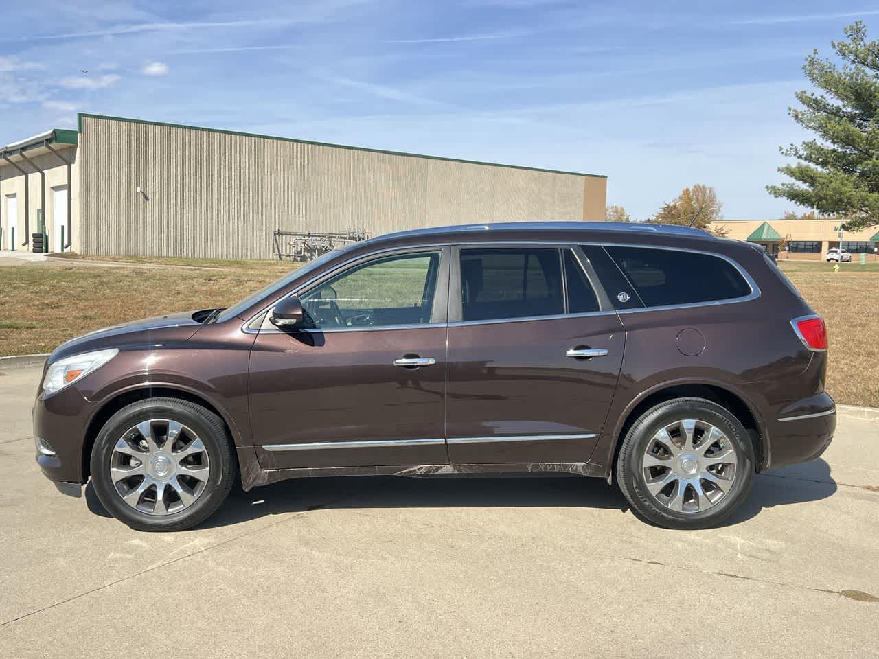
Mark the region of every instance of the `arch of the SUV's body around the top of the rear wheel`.
<instances>
[{"instance_id":1,"label":"arch of the SUV's body around the top of the rear wheel","mask_svg":"<svg viewBox=\"0 0 879 659\"><path fill-rule=\"evenodd\" d=\"M645 391L632 402L629 402L628 407L620 416L621 423L614 429L614 450L609 456L610 460L607 463L608 474L614 473L622 440L626 437L628 429L631 428L639 416L662 402L671 401L675 398L693 397L705 398L708 401L715 402L724 409L728 409L730 414L735 416L739 423L745 426L745 431L748 432L748 437L751 439L754 449L755 470L758 472L762 471L769 457L769 444L766 424L763 418L759 416L759 413L755 411L754 404L741 392L733 391L730 387L716 382L686 381L657 385Z\"/></svg>"}]
</instances>

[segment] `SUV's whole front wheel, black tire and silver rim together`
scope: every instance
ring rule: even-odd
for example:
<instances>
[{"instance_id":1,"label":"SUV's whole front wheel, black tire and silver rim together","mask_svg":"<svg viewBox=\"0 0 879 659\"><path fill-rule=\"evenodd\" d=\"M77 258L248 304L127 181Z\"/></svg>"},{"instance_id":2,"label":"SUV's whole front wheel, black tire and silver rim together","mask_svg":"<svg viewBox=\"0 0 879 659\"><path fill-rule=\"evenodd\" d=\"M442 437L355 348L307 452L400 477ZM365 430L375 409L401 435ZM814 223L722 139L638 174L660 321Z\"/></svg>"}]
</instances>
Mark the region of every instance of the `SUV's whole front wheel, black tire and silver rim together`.
<instances>
[{"instance_id":1,"label":"SUV's whole front wheel, black tire and silver rim together","mask_svg":"<svg viewBox=\"0 0 879 659\"><path fill-rule=\"evenodd\" d=\"M200 524L229 495L235 475L236 455L222 419L176 398L120 409L91 450L91 481L100 502L139 531Z\"/></svg>"}]
</instances>

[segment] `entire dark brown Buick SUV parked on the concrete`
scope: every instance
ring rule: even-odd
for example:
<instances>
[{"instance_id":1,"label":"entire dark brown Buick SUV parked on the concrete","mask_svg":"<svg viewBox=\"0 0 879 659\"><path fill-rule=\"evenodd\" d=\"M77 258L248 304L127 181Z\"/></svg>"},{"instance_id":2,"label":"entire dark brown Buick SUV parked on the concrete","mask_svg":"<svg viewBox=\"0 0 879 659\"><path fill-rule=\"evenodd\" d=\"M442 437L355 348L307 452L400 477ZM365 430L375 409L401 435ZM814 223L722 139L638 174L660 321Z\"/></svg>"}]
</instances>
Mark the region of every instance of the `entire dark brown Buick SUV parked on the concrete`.
<instances>
[{"instance_id":1,"label":"entire dark brown Buick SUV parked on the concrete","mask_svg":"<svg viewBox=\"0 0 879 659\"><path fill-rule=\"evenodd\" d=\"M646 224L430 228L357 243L227 309L47 360L37 460L128 525L324 475L614 474L657 525L716 525L817 458L827 339L766 254Z\"/></svg>"}]
</instances>

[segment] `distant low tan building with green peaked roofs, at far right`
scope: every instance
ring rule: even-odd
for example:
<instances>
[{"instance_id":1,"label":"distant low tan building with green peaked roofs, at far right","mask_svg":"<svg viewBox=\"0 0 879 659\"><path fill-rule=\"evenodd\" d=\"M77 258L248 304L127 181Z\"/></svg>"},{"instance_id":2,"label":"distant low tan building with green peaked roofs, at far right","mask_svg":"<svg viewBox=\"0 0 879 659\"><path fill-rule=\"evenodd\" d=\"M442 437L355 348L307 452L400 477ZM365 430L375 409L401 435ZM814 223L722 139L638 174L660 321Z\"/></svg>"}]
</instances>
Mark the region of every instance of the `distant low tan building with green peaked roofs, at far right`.
<instances>
[{"instance_id":1,"label":"distant low tan building with green peaked roofs, at far right","mask_svg":"<svg viewBox=\"0 0 879 659\"><path fill-rule=\"evenodd\" d=\"M821 260L832 247L839 247L840 221L833 218L814 220L721 220L711 228L730 230L728 238L760 243L781 259ZM868 260L879 259L879 226L863 231L843 231L842 248L852 254L867 254Z\"/></svg>"}]
</instances>

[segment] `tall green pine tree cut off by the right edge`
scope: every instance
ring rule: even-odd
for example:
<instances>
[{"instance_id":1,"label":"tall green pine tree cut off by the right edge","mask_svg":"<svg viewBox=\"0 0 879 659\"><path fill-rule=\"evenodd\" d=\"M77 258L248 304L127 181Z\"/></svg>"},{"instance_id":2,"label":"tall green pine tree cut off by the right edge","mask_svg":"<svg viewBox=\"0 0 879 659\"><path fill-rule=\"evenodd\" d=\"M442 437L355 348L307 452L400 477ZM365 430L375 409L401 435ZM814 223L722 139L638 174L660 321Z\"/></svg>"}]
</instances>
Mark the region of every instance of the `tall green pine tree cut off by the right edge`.
<instances>
[{"instance_id":1,"label":"tall green pine tree cut off by the right edge","mask_svg":"<svg viewBox=\"0 0 879 659\"><path fill-rule=\"evenodd\" d=\"M861 21L845 33L831 42L841 63L817 50L806 58L803 73L818 91L798 91L803 107L788 113L816 137L781 148L800 161L779 168L794 180L766 190L860 231L879 223L879 42L867 40Z\"/></svg>"}]
</instances>

